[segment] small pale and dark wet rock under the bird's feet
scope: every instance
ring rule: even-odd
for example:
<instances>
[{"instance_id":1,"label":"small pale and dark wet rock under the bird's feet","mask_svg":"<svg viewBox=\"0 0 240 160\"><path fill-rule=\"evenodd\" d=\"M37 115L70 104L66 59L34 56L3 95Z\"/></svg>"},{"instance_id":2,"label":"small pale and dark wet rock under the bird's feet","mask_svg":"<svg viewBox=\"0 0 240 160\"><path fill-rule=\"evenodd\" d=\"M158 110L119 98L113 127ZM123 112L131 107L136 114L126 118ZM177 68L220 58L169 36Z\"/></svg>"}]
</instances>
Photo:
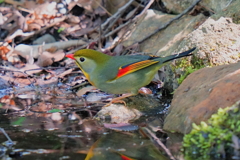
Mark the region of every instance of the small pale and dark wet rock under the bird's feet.
<instances>
[{"instance_id":1,"label":"small pale and dark wet rock under the bird's feet","mask_svg":"<svg viewBox=\"0 0 240 160\"><path fill-rule=\"evenodd\" d=\"M160 114L166 107L151 95L138 94L123 100L127 106L117 103L105 106L97 113L96 118L109 120L110 123L127 123L130 120L137 120L143 114Z\"/></svg>"}]
</instances>

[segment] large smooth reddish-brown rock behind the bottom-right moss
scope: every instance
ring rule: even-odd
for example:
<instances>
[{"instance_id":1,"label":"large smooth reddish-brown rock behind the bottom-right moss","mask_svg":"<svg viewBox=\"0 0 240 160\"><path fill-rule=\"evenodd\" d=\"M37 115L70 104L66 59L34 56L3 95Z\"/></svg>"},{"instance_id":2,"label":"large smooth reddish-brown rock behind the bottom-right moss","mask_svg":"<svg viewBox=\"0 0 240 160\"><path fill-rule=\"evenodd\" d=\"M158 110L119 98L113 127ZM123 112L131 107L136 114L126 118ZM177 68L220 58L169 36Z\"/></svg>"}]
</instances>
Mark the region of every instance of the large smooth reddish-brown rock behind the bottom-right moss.
<instances>
[{"instance_id":1,"label":"large smooth reddish-brown rock behind the bottom-right moss","mask_svg":"<svg viewBox=\"0 0 240 160\"><path fill-rule=\"evenodd\" d=\"M200 69L176 90L164 129L189 133L192 123L207 121L219 108L240 100L240 62Z\"/></svg>"}]
</instances>

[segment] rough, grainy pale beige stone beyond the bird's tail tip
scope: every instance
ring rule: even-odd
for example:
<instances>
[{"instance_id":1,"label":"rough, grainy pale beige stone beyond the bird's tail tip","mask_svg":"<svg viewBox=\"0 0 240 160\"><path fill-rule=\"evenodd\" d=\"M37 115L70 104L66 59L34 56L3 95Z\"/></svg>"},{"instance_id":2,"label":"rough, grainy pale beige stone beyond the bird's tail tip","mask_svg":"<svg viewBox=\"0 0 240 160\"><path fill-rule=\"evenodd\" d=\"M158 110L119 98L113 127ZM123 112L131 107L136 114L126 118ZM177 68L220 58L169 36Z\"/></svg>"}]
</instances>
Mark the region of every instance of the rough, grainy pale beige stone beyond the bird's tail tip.
<instances>
[{"instance_id":1,"label":"rough, grainy pale beige stone beyond the bird's tail tip","mask_svg":"<svg viewBox=\"0 0 240 160\"><path fill-rule=\"evenodd\" d=\"M181 42L180 51L185 46L196 46L198 58L207 66L236 63L240 59L240 24L231 18L218 20L208 18L198 29Z\"/></svg>"}]
</instances>

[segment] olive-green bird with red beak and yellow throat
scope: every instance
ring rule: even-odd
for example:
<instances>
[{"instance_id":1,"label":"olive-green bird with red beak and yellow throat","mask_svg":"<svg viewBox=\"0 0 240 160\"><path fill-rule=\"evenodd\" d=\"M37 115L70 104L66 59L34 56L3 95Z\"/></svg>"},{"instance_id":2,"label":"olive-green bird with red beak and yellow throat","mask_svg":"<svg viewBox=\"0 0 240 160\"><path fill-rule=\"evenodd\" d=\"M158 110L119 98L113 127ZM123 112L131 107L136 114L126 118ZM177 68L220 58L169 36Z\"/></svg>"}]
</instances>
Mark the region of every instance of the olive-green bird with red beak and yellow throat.
<instances>
[{"instance_id":1,"label":"olive-green bird with red beak and yellow throat","mask_svg":"<svg viewBox=\"0 0 240 160\"><path fill-rule=\"evenodd\" d=\"M107 93L124 94L112 99L110 103L124 103L121 99L137 95L138 90L148 85L165 63L190 56L195 49L196 47L166 57L109 56L92 49L81 49L66 57L76 62L91 85Z\"/></svg>"}]
</instances>

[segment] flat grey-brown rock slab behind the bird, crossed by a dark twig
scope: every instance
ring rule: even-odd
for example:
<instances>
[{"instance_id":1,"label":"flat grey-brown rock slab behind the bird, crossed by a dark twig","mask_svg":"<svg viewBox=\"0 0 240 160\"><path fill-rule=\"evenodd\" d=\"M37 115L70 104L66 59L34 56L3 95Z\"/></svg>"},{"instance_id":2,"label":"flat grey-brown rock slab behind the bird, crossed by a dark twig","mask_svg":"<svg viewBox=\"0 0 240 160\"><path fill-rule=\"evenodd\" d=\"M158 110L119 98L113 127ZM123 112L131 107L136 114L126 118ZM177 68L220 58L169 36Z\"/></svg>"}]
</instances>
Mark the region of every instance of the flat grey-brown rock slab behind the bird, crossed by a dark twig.
<instances>
[{"instance_id":1,"label":"flat grey-brown rock slab behind the bird, crossed by a dark twig","mask_svg":"<svg viewBox=\"0 0 240 160\"><path fill-rule=\"evenodd\" d=\"M162 12L149 9L143 20L137 22L136 27L131 26L130 34L123 41L124 47L130 47L143 38L147 37L161 26L168 23L175 15L164 14ZM191 33L199 22L204 22L207 17L203 15L186 15L172 22L167 28L157 32L152 37L143 41L139 47L141 52L155 56L168 56L176 54L181 41ZM184 48L185 50L191 47ZM175 51L175 53L174 53Z\"/></svg>"}]
</instances>

